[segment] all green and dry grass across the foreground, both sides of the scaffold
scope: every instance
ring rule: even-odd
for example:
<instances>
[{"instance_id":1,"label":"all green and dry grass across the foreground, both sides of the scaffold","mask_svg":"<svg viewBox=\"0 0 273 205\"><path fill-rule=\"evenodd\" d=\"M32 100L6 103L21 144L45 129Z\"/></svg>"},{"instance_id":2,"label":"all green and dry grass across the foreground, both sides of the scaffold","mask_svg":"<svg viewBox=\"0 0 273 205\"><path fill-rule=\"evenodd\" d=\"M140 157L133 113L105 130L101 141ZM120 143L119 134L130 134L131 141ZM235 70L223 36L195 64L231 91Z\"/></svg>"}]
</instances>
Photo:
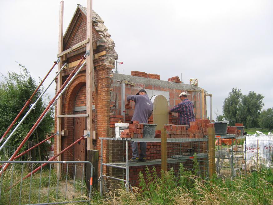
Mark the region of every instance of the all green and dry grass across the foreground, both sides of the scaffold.
<instances>
[{"instance_id":1,"label":"all green and dry grass across the foreground, both sides of the scaffold","mask_svg":"<svg viewBox=\"0 0 273 205\"><path fill-rule=\"evenodd\" d=\"M261 169L259 172L245 173L243 177L234 180L219 178L214 176L211 180L195 176L200 171L197 160L194 160L193 172L186 170L182 164L178 173L171 169L164 173L161 171L157 175L156 168L149 169L146 167L144 177L139 173L139 188L133 187L133 192L126 192L124 184L121 188L110 191L103 198L96 192L92 196L91 204L170 204L170 205L236 205L236 204L272 204L273 203L273 171L270 169ZM26 172L27 173L27 170ZM47 202L48 186L48 168L42 172L42 194L40 202ZM0 204L9 204L10 192L7 188L10 186L11 170L7 170L3 176L3 188L1 191ZM15 167L13 181L21 177L20 167ZM1 178L0 178L1 179ZM62 179L63 181L64 179ZM32 195L30 202L37 203L40 173L36 173L32 178ZM61 182L62 182L61 181ZM50 200L56 201L57 177L54 172L51 173L50 182ZM84 184L85 185L85 184ZM30 178L24 180L22 189L22 204L29 202ZM77 182L76 191L80 192L81 184ZM11 204L18 204L20 194L20 184L12 188ZM86 195L86 189L84 190ZM81 196L82 199L86 197ZM74 200L80 199L75 197ZM64 201L64 195L58 192L58 201ZM70 204L87 204L87 203L70 203Z\"/></svg>"}]
</instances>

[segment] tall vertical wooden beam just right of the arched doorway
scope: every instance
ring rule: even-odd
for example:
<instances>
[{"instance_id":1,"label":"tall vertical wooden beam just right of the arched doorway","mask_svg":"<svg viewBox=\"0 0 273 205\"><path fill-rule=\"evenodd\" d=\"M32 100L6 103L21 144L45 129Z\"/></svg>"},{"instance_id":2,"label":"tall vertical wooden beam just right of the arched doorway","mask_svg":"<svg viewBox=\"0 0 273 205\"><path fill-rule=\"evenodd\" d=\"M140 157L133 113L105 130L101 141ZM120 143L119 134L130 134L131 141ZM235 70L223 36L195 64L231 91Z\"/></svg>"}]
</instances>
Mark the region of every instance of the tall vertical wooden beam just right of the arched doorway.
<instances>
[{"instance_id":1,"label":"tall vertical wooden beam just right of the arched doorway","mask_svg":"<svg viewBox=\"0 0 273 205\"><path fill-rule=\"evenodd\" d=\"M92 143L92 76L93 76L93 48L92 48L92 0L87 0L87 16L86 16L86 38L89 42L86 44L86 50L89 55L86 58L86 118L87 131L90 137L87 138L87 150L93 149Z\"/></svg>"}]
</instances>

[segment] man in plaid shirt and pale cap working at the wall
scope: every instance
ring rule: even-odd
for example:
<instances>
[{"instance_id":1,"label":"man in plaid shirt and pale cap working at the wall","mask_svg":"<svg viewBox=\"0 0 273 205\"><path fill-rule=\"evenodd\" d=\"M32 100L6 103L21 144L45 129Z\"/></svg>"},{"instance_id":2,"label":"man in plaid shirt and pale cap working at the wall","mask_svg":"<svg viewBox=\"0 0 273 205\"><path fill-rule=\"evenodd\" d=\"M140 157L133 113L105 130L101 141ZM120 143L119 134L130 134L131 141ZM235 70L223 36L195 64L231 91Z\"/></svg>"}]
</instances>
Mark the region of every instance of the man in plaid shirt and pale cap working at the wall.
<instances>
[{"instance_id":1,"label":"man in plaid shirt and pale cap working at the wall","mask_svg":"<svg viewBox=\"0 0 273 205\"><path fill-rule=\"evenodd\" d=\"M193 103L188 100L185 92L180 93L179 99L182 101L178 105L169 110L169 114L178 113L178 124L190 125L190 122L194 122Z\"/></svg>"}]
</instances>

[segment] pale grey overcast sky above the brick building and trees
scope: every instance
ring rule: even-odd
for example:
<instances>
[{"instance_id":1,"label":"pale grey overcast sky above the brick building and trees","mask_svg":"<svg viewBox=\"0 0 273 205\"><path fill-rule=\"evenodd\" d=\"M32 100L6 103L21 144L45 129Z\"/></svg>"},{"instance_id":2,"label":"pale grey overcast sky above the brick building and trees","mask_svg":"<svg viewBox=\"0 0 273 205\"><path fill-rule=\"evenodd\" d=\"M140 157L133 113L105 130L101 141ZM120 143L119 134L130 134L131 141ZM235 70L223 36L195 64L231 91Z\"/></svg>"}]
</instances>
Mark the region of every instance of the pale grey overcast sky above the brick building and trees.
<instances>
[{"instance_id":1,"label":"pale grey overcast sky above the brick building and trees","mask_svg":"<svg viewBox=\"0 0 273 205\"><path fill-rule=\"evenodd\" d=\"M59 2L1 0L2 74L19 72L17 61L37 81L45 76L57 59ZM64 32L77 3L86 6L64 0ZM222 113L236 87L263 94L264 108L273 107L273 1L93 0L93 10L116 43L120 72L197 78L213 96L213 113Z\"/></svg>"}]
</instances>

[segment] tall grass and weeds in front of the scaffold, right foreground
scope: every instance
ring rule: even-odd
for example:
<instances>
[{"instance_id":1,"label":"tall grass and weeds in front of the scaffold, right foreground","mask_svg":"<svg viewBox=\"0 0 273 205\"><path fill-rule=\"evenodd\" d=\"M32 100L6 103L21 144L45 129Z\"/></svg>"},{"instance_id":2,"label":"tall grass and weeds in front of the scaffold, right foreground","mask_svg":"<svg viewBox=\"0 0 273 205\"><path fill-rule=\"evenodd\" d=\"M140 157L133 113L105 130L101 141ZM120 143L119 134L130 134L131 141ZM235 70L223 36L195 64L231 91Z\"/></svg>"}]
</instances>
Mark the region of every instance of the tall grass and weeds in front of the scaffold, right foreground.
<instances>
[{"instance_id":1,"label":"tall grass and weeds in front of the scaffold, right foreground","mask_svg":"<svg viewBox=\"0 0 273 205\"><path fill-rule=\"evenodd\" d=\"M197 166L197 165L196 165ZM272 169L246 173L246 176L234 180L214 176L204 180L192 175L180 165L179 173L173 170L161 172L146 168L146 178L139 173L140 188L133 188L133 193L116 189L111 191L98 204L272 204L273 173Z\"/></svg>"}]
</instances>

